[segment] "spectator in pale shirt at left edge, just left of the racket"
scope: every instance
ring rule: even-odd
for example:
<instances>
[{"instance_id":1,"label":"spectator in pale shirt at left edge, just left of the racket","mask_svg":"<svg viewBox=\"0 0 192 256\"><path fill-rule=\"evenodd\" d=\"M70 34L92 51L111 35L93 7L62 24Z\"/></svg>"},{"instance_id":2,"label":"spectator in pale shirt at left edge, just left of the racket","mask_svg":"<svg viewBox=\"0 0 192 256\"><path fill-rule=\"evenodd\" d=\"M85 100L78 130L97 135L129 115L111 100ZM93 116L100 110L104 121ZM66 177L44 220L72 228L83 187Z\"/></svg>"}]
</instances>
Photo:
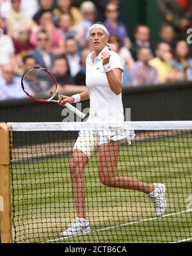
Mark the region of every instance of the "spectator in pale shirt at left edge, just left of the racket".
<instances>
[{"instance_id":1,"label":"spectator in pale shirt at left edge, just left of the racket","mask_svg":"<svg viewBox=\"0 0 192 256\"><path fill-rule=\"evenodd\" d=\"M24 98L26 94L20 86L20 78L14 76L12 64L1 67L2 74L0 76L0 99L10 100L12 98Z\"/></svg>"}]
</instances>

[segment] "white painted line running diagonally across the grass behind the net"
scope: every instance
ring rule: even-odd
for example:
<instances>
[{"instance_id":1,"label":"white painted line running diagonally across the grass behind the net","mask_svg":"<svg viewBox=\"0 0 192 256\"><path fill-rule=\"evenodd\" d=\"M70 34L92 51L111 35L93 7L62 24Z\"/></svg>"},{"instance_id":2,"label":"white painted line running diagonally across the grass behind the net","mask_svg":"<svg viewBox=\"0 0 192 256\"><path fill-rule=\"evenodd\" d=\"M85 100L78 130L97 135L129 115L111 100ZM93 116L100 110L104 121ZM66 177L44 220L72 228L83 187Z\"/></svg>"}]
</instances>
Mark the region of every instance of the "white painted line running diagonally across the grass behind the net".
<instances>
[{"instance_id":1,"label":"white painted line running diagonally across the grass behind the net","mask_svg":"<svg viewBox=\"0 0 192 256\"><path fill-rule=\"evenodd\" d=\"M119 225L116 225L116 226L108 226L107 228L101 228L99 230L93 230L92 232L84 233L83 235L90 235L90 234L95 233L95 232L111 230L113 228L119 228L120 226L131 226L132 224L138 224L138 223L143 223L143 222L147 222L147 221L153 221L155 219L161 219L161 218L164 218L164 217L170 217L170 216L184 214L184 213L188 213L188 212L192 212L192 209L184 210L182 212L173 212L172 214L166 214L166 215L163 215L161 217L152 217L152 218L148 218L148 219L141 219L140 221L132 221L130 223L119 224ZM82 234L80 234L80 235L82 235ZM71 236L71 237L76 237L76 236L80 236L80 235L74 235L74 236ZM52 240L45 241L45 242L57 242L57 241L65 240L65 239L70 239L71 237L60 237L58 239L52 239ZM45 243L45 242L43 242L43 243ZM182 242L182 241L179 241L179 242Z\"/></svg>"}]
</instances>

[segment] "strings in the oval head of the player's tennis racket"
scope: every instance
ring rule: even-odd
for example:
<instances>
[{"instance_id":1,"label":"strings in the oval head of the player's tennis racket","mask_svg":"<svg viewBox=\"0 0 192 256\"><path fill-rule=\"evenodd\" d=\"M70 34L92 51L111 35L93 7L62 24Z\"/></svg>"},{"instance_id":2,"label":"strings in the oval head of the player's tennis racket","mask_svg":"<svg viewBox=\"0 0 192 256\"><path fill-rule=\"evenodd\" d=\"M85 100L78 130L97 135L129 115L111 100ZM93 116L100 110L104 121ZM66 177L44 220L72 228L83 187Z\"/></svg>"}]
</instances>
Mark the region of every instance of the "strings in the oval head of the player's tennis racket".
<instances>
[{"instance_id":1,"label":"strings in the oval head of the player's tennis racket","mask_svg":"<svg viewBox=\"0 0 192 256\"><path fill-rule=\"evenodd\" d=\"M50 100L56 94L54 78L45 69L29 69L22 80L24 91L38 100Z\"/></svg>"}]
</instances>

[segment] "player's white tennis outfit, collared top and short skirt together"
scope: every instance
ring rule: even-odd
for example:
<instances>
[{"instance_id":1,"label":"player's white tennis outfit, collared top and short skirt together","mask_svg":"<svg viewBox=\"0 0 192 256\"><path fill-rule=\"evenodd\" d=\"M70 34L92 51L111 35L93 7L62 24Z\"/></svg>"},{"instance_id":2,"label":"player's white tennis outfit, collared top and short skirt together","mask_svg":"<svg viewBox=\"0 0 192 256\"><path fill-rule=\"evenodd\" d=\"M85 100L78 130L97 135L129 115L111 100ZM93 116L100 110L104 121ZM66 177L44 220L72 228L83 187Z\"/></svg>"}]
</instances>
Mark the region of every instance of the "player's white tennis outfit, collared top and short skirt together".
<instances>
[{"instance_id":1,"label":"player's white tennis outfit, collared top and short skirt together","mask_svg":"<svg viewBox=\"0 0 192 256\"><path fill-rule=\"evenodd\" d=\"M122 123L124 122L124 107L122 104L122 93L116 95L111 90L108 78L102 67L101 54L109 51L111 54L109 63L112 69L123 69L122 59L110 51L106 46L93 62L93 54L90 53L86 58L86 86L90 96L90 116L88 123ZM128 133L128 134L127 134ZM111 140L122 140L127 138L131 141L134 131L122 133L120 129L109 129L104 131L81 131L74 145L74 149L79 149L90 158L98 145L108 143Z\"/></svg>"}]
</instances>

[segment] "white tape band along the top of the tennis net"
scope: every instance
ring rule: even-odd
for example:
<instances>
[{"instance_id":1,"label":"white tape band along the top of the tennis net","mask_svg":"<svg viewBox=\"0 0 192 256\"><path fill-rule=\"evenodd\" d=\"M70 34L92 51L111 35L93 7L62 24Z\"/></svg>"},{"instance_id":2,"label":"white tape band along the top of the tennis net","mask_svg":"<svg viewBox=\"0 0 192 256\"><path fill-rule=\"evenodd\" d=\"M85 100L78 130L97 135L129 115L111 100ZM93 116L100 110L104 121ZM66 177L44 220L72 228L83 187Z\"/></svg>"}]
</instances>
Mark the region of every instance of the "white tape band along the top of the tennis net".
<instances>
[{"instance_id":1,"label":"white tape band along the top of the tennis net","mask_svg":"<svg viewBox=\"0 0 192 256\"><path fill-rule=\"evenodd\" d=\"M192 121L158 121L158 122L42 122L42 123L8 123L12 131L91 131L118 128L135 131L190 130Z\"/></svg>"}]
</instances>

